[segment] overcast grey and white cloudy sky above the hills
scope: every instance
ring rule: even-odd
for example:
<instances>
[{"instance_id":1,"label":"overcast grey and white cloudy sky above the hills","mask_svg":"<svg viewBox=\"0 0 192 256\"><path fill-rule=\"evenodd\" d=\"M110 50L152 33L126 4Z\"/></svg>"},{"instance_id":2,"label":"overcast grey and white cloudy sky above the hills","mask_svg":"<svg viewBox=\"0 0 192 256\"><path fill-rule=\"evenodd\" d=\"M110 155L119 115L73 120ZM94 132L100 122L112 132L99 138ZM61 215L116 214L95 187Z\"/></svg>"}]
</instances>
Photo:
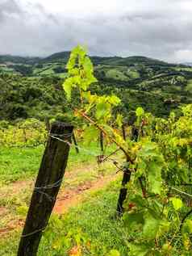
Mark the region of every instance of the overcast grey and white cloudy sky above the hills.
<instances>
[{"instance_id":1,"label":"overcast grey and white cloudy sky above the hills","mask_svg":"<svg viewBox=\"0 0 192 256\"><path fill-rule=\"evenodd\" d=\"M192 0L0 0L0 54L192 61Z\"/></svg>"}]
</instances>

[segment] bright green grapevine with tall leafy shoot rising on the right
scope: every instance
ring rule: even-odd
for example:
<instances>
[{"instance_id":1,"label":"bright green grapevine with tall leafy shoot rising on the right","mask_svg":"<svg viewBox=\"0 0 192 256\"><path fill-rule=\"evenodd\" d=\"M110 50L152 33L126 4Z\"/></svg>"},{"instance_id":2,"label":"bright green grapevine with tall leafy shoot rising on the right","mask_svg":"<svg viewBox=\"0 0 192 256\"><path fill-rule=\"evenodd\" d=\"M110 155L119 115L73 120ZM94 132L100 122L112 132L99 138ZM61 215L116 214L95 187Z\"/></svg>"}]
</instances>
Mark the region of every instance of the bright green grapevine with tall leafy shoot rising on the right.
<instances>
[{"instance_id":1,"label":"bright green grapevine with tall leafy shoot rising on the right","mask_svg":"<svg viewBox=\"0 0 192 256\"><path fill-rule=\"evenodd\" d=\"M179 117L170 113L167 120L138 107L131 124L136 136L125 138L125 117L115 115L120 99L91 93L97 80L85 48L73 49L67 69L63 87L68 100L74 90L80 94L81 107L74 115L84 120L85 137L97 138L102 132L106 143L114 143L124 156L120 195L129 255L190 255L190 191L185 185L192 178L192 105L183 106Z\"/></svg>"}]
</instances>

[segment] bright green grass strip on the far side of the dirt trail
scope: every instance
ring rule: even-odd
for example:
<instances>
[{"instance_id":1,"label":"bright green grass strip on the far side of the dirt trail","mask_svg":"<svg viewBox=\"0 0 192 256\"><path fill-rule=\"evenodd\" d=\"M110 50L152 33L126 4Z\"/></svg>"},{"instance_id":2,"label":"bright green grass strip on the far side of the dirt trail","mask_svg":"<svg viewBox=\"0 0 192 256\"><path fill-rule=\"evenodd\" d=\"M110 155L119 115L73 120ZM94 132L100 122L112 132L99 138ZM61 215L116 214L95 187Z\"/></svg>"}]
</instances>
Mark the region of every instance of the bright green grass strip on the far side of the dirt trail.
<instances>
[{"instance_id":1,"label":"bright green grass strip on the far side of the dirt trail","mask_svg":"<svg viewBox=\"0 0 192 256\"><path fill-rule=\"evenodd\" d=\"M81 145L77 154L74 147L70 150L68 168L80 163L95 162L95 156L100 154L96 144ZM111 152L114 147L108 151ZM44 146L36 148L1 148L0 150L0 184L11 183L35 177L40 167Z\"/></svg>"}]
</instances>

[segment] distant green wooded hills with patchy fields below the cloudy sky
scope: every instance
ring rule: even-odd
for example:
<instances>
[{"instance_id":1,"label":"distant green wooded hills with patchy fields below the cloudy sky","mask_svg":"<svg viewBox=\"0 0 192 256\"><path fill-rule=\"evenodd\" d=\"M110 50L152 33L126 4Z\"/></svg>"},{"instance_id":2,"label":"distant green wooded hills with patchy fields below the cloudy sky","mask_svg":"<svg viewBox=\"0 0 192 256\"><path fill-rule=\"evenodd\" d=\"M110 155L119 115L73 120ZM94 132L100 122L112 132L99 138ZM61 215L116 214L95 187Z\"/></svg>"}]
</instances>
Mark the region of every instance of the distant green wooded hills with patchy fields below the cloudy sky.
<instances>
[{"instance_id":1,"label":"distant green wooded hills with patchy fields below the cloudy sky","mask_svg":"<svg viewBox=\"0 0 192 256\"><path fill-rule=\"evenodd\" d=\"M61 84L68 76L70 52L45 58L0 56L0 116L4 119L44 116L69 112ZM185 103L192 103L192 67L148 57L90 57L98 82L98 94L117 94L121 111L144 107L157 116ZM77 104L77 94L73 95ZM0 120L1 120L0 117Z\"/></svg>"}]
</instances>

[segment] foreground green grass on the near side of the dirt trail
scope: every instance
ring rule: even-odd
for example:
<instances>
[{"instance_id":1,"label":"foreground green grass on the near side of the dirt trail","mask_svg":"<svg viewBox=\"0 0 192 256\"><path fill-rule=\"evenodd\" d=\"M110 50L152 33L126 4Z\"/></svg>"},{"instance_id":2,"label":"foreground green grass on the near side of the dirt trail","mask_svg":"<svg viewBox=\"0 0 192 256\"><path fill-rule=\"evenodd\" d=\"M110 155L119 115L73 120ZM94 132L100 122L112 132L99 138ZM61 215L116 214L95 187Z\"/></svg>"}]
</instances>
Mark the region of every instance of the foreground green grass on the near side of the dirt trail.
<instances>
[{"instance_id":1,"label":"foreground green grass on the near side of the dirt trail","mask_svg":"<svg viewBox=\"0 0 192 256\"><path fill-rule=\"evenodd\" d=\"M115 218L119 182L92 195L87 194L84 204L72 208L61 217L52 216L40 242L38 256L65 256L73 246L81 247L81 255L110 255L118 250L127 255L127 230ZM16 254L20 233L0 241L0 255Z\"/></svg>"}]
</instances>

